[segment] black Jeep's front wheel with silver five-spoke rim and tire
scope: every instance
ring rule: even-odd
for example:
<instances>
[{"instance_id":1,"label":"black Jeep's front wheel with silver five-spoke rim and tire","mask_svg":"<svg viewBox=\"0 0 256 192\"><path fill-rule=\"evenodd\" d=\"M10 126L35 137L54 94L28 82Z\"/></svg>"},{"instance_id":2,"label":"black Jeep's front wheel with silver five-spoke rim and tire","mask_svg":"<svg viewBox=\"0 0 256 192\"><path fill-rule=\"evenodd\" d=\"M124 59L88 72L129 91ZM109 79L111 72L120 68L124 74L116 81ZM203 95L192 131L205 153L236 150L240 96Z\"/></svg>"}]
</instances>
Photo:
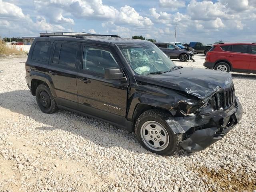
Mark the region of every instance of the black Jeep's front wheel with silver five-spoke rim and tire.
<instances>
[{"instance_id":1,"label":"black Jeep's front wheel with silver five-spoke rim and tire","mask_svg":"<svg viewBox=\"0 0 256 192\"><path fill-rule=\"evenodd\" d=\"M160 155L172 155L179 147L182 134L174 134L166 122L170 114L160 110L143 112L136 121L135 134L147 150Z\"/></svg>"}]
</instances>

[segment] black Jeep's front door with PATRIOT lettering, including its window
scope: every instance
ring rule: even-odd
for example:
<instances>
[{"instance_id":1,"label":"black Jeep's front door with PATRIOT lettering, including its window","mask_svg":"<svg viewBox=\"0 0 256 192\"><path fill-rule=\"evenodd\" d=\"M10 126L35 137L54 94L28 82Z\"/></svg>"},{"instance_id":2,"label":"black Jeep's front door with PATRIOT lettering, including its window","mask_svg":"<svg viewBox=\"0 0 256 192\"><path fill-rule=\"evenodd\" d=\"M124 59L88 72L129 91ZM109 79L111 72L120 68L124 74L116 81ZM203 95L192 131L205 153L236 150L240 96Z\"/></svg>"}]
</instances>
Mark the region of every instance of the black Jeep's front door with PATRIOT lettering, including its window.
<instances>
[{"instance_id":1,"label":"black Jeep's front door with PATRIOT lettering, including its window","mask_svg":"<svg viewBox=\"0 0 256 192\"><path fill-rule=\"evenodd\" d=\"M105 68L121 69L117 57L106 47L84 44L82 49L82 63L76 78L80 110L124 125L128 80L104 78Z\"/></svg>"}]
</instances>

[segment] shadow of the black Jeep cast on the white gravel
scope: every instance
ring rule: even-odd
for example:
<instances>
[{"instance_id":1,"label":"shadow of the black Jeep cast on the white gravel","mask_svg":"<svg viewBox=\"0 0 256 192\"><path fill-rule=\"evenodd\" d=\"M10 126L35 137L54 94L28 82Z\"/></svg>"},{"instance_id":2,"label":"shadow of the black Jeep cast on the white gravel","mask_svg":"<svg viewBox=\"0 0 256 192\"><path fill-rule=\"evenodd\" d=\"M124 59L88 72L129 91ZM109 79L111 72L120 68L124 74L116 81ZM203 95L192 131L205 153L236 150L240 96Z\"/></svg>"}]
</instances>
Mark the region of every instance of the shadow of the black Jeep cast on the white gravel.
<instances>
[{"instance_id":1,"label":"shadow of the black Jeep cast on the white gravel","mask_svg":"<svg viewBox=\"0 0 256 192\"><path fill-rule=\"evenodd\" d=\"M114 146L124 148L130 152L153 154L140 146L134 133L129 133L109 123L69 112L68 110L58 110L54 114L44 114L40 111L36 98L31 95L29 90L0 93L0 107L28 116L36 122L47 125L37 127L36 129L38 130L54 131L60 129L82 136L84 139L90 140L90 142L101 147L110 148ZM186 152L180 148L175 157L190 156L191 154L193 153Z\"/></svg>"}]
</instances>

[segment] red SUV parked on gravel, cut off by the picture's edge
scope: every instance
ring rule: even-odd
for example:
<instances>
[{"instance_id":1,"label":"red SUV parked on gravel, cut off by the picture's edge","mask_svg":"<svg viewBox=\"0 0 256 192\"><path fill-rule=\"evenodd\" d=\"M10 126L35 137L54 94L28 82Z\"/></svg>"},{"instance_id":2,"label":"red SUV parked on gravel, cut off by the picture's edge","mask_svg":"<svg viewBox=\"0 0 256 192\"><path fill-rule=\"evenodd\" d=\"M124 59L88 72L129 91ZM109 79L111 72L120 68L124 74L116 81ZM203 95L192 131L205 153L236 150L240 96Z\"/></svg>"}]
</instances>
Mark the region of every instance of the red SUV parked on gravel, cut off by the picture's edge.
<instances>
[{"instance_id":1,"label":"red SUV parked on gravel, cut off by the picture's edge","mask_svg":"<svg viewBox=\"0 0 256 192\"><path fill-rule=\"evenodd\" d=\"M214 44L206 54L204 66L223 72L256 74L256 43Z\"/></svg>"}]
</instances>

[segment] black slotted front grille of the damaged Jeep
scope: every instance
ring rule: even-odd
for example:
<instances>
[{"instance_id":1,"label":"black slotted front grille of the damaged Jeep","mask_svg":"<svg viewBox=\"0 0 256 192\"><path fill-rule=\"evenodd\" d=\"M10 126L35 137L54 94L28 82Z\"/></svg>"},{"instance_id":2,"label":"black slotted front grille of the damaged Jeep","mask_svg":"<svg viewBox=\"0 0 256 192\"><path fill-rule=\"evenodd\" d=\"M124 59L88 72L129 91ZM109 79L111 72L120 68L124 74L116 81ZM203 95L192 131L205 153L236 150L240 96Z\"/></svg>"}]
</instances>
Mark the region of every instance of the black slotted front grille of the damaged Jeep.
<instances>
[{"instance_id":1,"label":"black slotted front grille of the damaged Jeep","mask_svg":"<svg viewBox=\"0 0 256 192\"><path fill-rule=\"evenodd\" d=\"M214 110L224 109L226 110L235 102L235 88L232 84L230 89L223 90L212 96L209 100L209 104L212 105Z\"/></svg>"}]
</instances>

